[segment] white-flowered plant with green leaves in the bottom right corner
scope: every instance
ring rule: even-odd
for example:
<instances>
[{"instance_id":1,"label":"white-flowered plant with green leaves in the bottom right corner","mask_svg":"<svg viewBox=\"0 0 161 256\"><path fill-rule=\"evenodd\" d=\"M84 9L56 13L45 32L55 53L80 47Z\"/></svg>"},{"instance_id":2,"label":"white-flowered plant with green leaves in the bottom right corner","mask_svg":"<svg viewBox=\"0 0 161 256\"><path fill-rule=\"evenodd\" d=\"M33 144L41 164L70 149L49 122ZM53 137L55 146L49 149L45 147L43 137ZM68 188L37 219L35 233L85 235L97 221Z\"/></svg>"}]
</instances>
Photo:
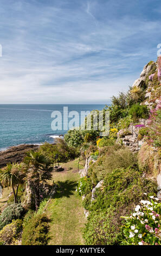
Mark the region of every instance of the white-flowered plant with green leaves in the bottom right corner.
<instances>
[{"instance_id":1,"label":"white-flowered plant with green leaves in the bottom right corner","mask_svg":"<svg viewBox=\"0 0 161 256\"><path fill-rule=\"evenodd\" d=\"M124 218L124 245L161 245L161 203L150 196L141 200L134 212Z\"/></svg>"}]
</instances>

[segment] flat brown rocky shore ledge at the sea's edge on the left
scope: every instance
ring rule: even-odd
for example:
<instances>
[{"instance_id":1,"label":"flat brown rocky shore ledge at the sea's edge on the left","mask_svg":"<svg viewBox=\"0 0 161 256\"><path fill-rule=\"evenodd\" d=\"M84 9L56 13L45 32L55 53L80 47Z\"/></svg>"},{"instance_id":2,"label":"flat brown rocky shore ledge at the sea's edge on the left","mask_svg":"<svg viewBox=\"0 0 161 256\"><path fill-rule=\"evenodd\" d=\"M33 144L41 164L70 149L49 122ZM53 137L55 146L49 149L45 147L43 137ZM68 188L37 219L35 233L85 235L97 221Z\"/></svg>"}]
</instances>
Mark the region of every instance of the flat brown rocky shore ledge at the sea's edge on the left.
<instances>
[{"instance_id":1,"label":"flat brown rocky shore ledge at the sea's edge on the left","mask_svg":"<svg viewBox=\"0 0 161 256\"><path fill-rule=\"evenodd\" d=\"M5 151L0 151L0 168L4 167L9 162L21 162L30 150L36 150L40 146L32 144L23 144L15 147L10 147Z\"/></svg>"}]
</instances>

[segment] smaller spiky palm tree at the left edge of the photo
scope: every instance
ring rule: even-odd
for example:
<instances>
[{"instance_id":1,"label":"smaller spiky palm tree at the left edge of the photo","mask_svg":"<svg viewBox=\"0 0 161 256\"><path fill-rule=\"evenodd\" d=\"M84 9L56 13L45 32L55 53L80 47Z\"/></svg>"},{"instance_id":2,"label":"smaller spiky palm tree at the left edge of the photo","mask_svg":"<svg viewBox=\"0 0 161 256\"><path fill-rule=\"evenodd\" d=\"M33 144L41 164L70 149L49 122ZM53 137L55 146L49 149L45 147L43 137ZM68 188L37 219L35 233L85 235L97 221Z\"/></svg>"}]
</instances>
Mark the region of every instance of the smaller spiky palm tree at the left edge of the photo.
<instances>
[{"instance_id":1,"label":"smaller spiky palm tree at the left edge of the photo","mask_svg":"<svg viewBox=\"0 0 161 256\"><path fill-rule=\"evenodd\" d=\"M22 164L8 163L6 167L0 169L0 180L5 187L12 187L14 203L17 203L18 187L23 184L24 179Z\"/></svg>"}]
</instances>

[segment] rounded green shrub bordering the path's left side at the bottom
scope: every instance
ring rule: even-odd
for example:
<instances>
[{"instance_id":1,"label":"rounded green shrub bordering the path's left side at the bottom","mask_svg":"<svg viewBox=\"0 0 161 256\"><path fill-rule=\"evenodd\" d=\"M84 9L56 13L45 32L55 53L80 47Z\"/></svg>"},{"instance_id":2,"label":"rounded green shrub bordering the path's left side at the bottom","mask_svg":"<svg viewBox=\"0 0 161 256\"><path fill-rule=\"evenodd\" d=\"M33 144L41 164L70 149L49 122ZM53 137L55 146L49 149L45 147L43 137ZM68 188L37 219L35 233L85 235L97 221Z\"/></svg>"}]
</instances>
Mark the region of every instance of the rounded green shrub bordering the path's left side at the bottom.
<instances>
[{"instance_id":1,"label":"rounded green shrub bordering the path's left side at the bottom","mask_svg":"<svg viewBox=\"0 0 161 256\"><path fill-rule=\"evenodd\" d=\"M44 214L35 215L25 225L22 233L22 245L47 245L49 219Z\"/></svg>"}]
</instances>

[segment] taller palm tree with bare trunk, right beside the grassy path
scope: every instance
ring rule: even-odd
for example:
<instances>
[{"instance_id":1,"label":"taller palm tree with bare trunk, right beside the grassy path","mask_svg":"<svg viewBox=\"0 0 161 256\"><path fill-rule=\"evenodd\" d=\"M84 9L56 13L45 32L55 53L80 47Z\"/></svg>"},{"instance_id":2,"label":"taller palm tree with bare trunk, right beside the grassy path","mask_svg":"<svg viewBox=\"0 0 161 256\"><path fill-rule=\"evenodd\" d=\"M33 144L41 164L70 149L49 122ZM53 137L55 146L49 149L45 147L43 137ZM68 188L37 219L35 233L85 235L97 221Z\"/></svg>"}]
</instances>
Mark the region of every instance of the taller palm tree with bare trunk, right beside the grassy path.
<instances>
[{"instance_id":1,"label":"taller palm tree with bare trunk, right beside the grassy path","mask_svg":"<svg viewBox=\"0 0 161 256\"><path fill-rule=\"evenodd\" d=\"M40 206L40 182L51 179L53 167L50 160L40 152L30 151L24 159L28 167L28 179L34 183L34 196L36 211Z\"/></svg>"}]
</instances>

